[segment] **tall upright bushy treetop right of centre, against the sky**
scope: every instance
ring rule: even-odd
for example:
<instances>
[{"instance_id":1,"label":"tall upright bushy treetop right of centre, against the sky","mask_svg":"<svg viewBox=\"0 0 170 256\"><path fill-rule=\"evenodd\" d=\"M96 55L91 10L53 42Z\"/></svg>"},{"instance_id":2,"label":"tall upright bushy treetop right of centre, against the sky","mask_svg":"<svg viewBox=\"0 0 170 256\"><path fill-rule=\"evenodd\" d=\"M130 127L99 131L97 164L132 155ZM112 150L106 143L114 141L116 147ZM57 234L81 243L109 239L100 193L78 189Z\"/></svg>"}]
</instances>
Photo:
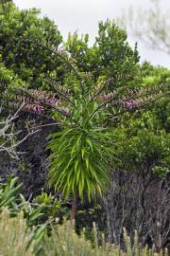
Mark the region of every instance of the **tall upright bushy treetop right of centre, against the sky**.
<instances>
[{"instance_id":1,"label":"tall upright bushy treetop right of centre, against the sky","mask_svg":"<svg viewBox=\"0 0 170 256\"><path fill-rule=\"evenodd\" d=\"M115 23L99 23L94 46L98 57L97 66L105 70L106 76L113 77L116 85L125 85L123 81L128 82L135 76L136 64L139 62L137 46L134 51L128 46L126 32Z\"/></svg>"}]
</instances>

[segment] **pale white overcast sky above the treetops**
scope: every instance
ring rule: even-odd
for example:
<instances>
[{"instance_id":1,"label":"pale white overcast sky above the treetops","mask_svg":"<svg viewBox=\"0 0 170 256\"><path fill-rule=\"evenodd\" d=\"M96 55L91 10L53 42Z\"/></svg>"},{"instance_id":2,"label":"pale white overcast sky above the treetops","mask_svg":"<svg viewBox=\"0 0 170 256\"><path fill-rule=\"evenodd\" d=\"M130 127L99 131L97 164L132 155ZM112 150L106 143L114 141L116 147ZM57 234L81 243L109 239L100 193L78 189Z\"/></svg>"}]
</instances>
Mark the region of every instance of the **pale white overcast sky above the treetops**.
<instances>
[{"instance_id":1,"label":"pale white overcast sky above the treetops","mask_svg":"<svg viewBox=\"0 0 170 256\"><path fill-rule=\"evenodd\" d=\"M97 34L99 21L121 17L123 11L131 6L138 9L149 6L149 0L14 0L13 2L20 9L41 9L42 15L47 15L55 21L64 39L67 38L69 31L78 31L79 34L88 33L90 42L93 42ZM162 11L170 9L170 0L161 0L161 3ZM130 46L134 46L135 41L138 41L142 61L146 60L151 64L161 64L170 68L170 55L147 48L129 33Z\"/></svg>"}]
</instances>

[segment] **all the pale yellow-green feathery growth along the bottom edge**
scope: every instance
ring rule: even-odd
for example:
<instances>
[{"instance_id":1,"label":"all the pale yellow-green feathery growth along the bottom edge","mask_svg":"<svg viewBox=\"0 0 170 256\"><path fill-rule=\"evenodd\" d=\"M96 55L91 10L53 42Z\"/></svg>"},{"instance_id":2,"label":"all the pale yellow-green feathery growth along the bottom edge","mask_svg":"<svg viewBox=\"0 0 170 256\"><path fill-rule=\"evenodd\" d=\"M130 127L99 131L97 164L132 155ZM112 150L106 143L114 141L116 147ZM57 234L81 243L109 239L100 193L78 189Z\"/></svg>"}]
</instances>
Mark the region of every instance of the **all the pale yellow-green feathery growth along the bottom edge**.
<instances>
[{"instance_id":1,"label":"all the pale yellow-green feathery growth along the bottom edge","mask_svg":"<svg viewBox=\"0 0 170 256\"><path fill-rule=\"evenodd\" d=\"M36 256L35 245L30 243L33 230L27 229L26 219L20 212L10 217L7 209L0 214L0 256ZM93 229L93 244L86 240L84 233L76 234L73 223L67 222L52 228L51 235L42 240L42 256L168 256L167 250L160 253L155 248L141 247L135 234L133 247L125 230L126 251L103 242L97 244L96 230Z\"/></svg>"}]
</instances>

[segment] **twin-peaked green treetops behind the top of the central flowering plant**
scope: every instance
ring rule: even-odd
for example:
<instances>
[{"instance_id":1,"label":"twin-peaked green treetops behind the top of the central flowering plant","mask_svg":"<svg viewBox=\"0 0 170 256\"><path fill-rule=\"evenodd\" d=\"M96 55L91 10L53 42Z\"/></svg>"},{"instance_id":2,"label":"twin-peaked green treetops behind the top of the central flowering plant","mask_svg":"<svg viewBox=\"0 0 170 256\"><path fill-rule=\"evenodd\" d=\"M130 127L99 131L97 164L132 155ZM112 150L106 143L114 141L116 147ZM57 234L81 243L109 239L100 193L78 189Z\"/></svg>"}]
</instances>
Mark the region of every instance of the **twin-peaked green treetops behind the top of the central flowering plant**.
<instances>
[{"instance_id":1,"label":"twin-peaked green treetops behind the top of the central flowering plant","mask_svg":"<svg viewBox=\"0 0 170 256\"><path fill-rule=\"evenodd\" d=\"M113 78L113 87L131 85L137 75L139 55L127 44L127 34L114 22L100 22L98 36L93 46L88 45L88 34L78 39L77 34L69 34L65 43L80 71L92 72L99 77Z\"/></svg>"}]
</instances>

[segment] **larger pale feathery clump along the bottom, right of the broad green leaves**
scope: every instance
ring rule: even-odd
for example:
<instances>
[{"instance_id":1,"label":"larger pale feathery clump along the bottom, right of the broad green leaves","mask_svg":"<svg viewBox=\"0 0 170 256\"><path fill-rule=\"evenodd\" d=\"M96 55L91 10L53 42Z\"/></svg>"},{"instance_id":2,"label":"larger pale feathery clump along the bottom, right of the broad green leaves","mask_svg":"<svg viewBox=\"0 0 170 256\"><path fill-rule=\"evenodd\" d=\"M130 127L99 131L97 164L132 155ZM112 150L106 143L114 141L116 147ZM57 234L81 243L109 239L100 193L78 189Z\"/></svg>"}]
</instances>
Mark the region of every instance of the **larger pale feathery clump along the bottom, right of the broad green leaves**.
<instances>
[{"instance_id":1,"label":"larger pale feathery clump along the bottom, right of the broad green leaves","mask_svg":"<svg viewBox=\"0 0 170 256\"><path fill-rule=\"evenodd\" d=\"M95 229L93 230L95 236ZM126 243L126 251L122 251L120 247L110 245L104 242L101 246L96 243L94 237L93 245L87 241L83 233L78 236L70 223L65 223L57 229L52 230L52 234L45 238L43 243L45 256L168 256L168 252L155 252L155 248L148 249L141 247L138 243L138 236L135 235L133 247L131 247L130 238L124 231L124 239Z\"/></svg>"}]
</instances>

